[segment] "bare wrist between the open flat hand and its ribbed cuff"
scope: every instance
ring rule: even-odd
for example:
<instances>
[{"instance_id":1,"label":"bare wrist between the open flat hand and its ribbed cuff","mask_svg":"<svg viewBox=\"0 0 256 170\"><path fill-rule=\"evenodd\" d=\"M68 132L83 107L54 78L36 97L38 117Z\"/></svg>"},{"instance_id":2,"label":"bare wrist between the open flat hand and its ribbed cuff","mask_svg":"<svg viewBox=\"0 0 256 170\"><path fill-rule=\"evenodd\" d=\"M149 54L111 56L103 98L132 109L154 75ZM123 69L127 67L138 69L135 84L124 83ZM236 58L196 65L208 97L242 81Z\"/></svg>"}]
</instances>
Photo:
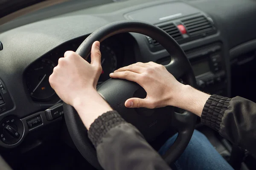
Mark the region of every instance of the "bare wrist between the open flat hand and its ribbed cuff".
<instances>
[{"instance_id":1,"label":"bare wrist between the open flat hand and its ribbed cuff","mask_svg":"<svg viewBox=\"0 0 256 170\"><path fill-rule=\"evenodd\" d=\"M198 91L190 85L183 85L177 95L174 97L176 100L173 100L173 106L190 111L200 117L204 105L210 97L209 94Z\"/></svg>"}]
</instances>

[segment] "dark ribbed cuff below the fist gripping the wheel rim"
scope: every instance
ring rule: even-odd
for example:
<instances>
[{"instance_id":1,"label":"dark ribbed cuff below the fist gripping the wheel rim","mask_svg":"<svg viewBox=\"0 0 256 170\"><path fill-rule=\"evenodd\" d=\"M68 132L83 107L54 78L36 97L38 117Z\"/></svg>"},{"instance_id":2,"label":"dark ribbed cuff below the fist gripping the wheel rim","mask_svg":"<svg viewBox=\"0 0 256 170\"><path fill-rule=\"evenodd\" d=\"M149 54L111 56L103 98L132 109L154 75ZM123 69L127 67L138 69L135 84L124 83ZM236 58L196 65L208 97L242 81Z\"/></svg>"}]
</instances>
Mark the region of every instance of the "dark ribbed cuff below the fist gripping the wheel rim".
<instances>
[{"instance_id":1,"label":"dark ribbed cuff below the fist gripping the wheel rim","mask_svg":"<svg viewBox=\"0 0 256 170\"><path fill-rule=\"evenodd\" d=\"M117 111L108 111L107 113L99 116L93 123L90 125L88 130L88 137L93 143L94 147L97 147L98 144L102 142L102 138L105 136L108 131L125 123L125 120L119 115Z\"/></svg>"}]
</instances>

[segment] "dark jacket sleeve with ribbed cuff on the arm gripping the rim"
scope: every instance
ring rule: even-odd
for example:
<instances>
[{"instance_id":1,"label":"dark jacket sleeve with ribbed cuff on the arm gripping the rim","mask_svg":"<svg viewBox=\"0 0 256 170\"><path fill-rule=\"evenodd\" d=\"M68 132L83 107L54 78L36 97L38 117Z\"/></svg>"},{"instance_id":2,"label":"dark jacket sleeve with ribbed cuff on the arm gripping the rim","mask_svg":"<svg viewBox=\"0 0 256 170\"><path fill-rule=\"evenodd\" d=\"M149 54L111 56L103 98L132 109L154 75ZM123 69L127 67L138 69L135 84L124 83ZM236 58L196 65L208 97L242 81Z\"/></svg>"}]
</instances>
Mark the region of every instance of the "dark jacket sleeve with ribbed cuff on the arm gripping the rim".
<instances>
[{"instance_id":1,"label":"dark jacket sleeve with ribbed cuff on the arm gripping the rim","mask_svg":"<svg viewBox=\"0 0 256 170\"><path fill-rule=\"evenodd\" d=\"M99 116L90 126L88 136L105 170L170 170L139 130L116 111Z\"/></svg>"}]
</instances>

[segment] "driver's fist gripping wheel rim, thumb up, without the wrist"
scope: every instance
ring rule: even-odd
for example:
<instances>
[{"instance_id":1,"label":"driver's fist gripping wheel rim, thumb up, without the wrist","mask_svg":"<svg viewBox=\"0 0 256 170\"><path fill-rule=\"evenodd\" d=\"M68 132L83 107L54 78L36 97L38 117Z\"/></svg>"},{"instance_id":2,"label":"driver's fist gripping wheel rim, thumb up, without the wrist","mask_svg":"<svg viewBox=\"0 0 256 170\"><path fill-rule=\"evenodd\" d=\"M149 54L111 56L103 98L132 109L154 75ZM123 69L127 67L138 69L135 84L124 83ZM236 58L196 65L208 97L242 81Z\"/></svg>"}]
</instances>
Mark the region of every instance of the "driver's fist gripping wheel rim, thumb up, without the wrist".
<instances>
[{"instance_id":1,"label":"driver's fist gripping wheel rim, thumb up, without the wrist","mask_svg":"<svg viewBox=\"0 0 256 170\"><path fill-rule=\"evenodd\" d=\"M88 63L74 51L66 51L58 60L49 82L58 96L67 104L86 94L95 93L102 72L99 42L92 46L91 63Z\"/></svg>"}]
</instances>

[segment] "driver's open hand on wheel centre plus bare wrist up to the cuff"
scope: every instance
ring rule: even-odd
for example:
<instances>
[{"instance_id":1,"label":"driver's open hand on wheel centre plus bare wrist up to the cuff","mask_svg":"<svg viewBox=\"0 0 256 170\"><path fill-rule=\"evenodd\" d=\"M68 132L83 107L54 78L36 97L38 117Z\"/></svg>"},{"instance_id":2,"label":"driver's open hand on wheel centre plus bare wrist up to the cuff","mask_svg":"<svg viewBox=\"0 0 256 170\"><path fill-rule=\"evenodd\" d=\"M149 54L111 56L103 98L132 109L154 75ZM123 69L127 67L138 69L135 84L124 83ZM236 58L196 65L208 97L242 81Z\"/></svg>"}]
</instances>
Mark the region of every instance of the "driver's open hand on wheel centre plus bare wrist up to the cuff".
<instances>
[{"instance_id":1,"label":"driver's open hand on wheel centre plus bare wrist up to the cuff","mask_svg":"<svg viewBox=\"0 0 256 170\"><path fill-rule=\"evenodd\" d=\"M204 104L209 98L208 94L178 82L163 65L154 62L137 62L119 68L110 77L137 82L147 92L145 99L126 100L125 106L128 108L160 108L172 105L201 116Z\"/></svg>"}]
</instances>

